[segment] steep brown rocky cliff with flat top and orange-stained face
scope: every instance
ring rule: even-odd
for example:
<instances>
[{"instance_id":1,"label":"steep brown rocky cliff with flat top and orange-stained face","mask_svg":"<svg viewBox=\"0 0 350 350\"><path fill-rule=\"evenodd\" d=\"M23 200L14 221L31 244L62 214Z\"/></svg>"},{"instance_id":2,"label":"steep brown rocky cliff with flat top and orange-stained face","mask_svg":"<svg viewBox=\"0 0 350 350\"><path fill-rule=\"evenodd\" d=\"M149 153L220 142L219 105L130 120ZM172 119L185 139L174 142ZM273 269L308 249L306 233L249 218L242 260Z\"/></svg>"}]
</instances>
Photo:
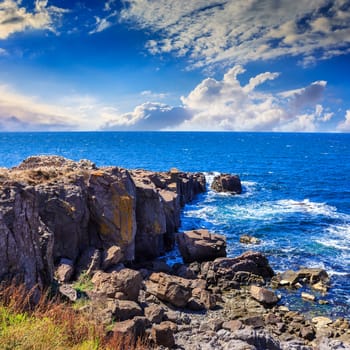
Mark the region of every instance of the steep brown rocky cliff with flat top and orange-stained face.
<instances>
[{"instance_id":1,"label":"steep brown rocky cliff with flat top and orange-stained face","mask_svg":"<svg viewBox=\"0 0 350 350\"><path fill-rule=\"evenodd\" d=\"M111 252L121 261L157 257L174 244L181 207L204 191L202 174L97 168L58 156L1 169L0 280L42 287L62 262L74 274L115 263Z\"/></svg>"}]
</instances>

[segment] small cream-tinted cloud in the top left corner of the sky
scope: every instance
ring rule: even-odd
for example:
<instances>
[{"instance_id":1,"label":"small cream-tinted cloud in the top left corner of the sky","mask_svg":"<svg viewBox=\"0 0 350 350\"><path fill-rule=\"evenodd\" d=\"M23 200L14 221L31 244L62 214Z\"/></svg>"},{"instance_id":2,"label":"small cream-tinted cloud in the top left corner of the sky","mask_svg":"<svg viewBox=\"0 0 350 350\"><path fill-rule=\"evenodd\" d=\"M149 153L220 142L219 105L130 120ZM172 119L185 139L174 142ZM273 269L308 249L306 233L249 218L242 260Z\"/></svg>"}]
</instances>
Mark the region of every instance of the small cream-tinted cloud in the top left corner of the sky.
<instances>
[{"instance_id":1,"label":"small cream-tinted cloud in the top left corner of the sky","mask_svg":"<svg viewBox=\"0 0 350 350\"><path fill-rule=\"evenodd\" d=\"M28 11L21 1L4 0L0 3L0 39L28 29L56 31L56 21L66 10L48 6L47 0L35 0L34 9Z\"/></svg>"}]
</instances>

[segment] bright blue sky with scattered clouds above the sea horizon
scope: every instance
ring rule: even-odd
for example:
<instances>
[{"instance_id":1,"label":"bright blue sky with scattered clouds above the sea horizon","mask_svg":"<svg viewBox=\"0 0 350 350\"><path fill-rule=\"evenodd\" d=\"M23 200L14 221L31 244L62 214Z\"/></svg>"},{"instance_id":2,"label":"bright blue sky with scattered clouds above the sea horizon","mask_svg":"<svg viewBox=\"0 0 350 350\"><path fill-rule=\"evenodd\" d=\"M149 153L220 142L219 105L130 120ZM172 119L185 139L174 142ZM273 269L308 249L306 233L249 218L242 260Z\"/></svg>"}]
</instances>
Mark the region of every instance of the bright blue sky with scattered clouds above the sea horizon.
<instances>
[{"instance_id":1,"label":"bright blue sky with scattered clouds above the sea horizon","mask_svg":"<svg viewBox=\"0 0 350 350\"><path fill-rule=\"evenodd\" d=\"M0 131L350 132L350 0L0 0Z\"/></svg>"}]
</instances>

